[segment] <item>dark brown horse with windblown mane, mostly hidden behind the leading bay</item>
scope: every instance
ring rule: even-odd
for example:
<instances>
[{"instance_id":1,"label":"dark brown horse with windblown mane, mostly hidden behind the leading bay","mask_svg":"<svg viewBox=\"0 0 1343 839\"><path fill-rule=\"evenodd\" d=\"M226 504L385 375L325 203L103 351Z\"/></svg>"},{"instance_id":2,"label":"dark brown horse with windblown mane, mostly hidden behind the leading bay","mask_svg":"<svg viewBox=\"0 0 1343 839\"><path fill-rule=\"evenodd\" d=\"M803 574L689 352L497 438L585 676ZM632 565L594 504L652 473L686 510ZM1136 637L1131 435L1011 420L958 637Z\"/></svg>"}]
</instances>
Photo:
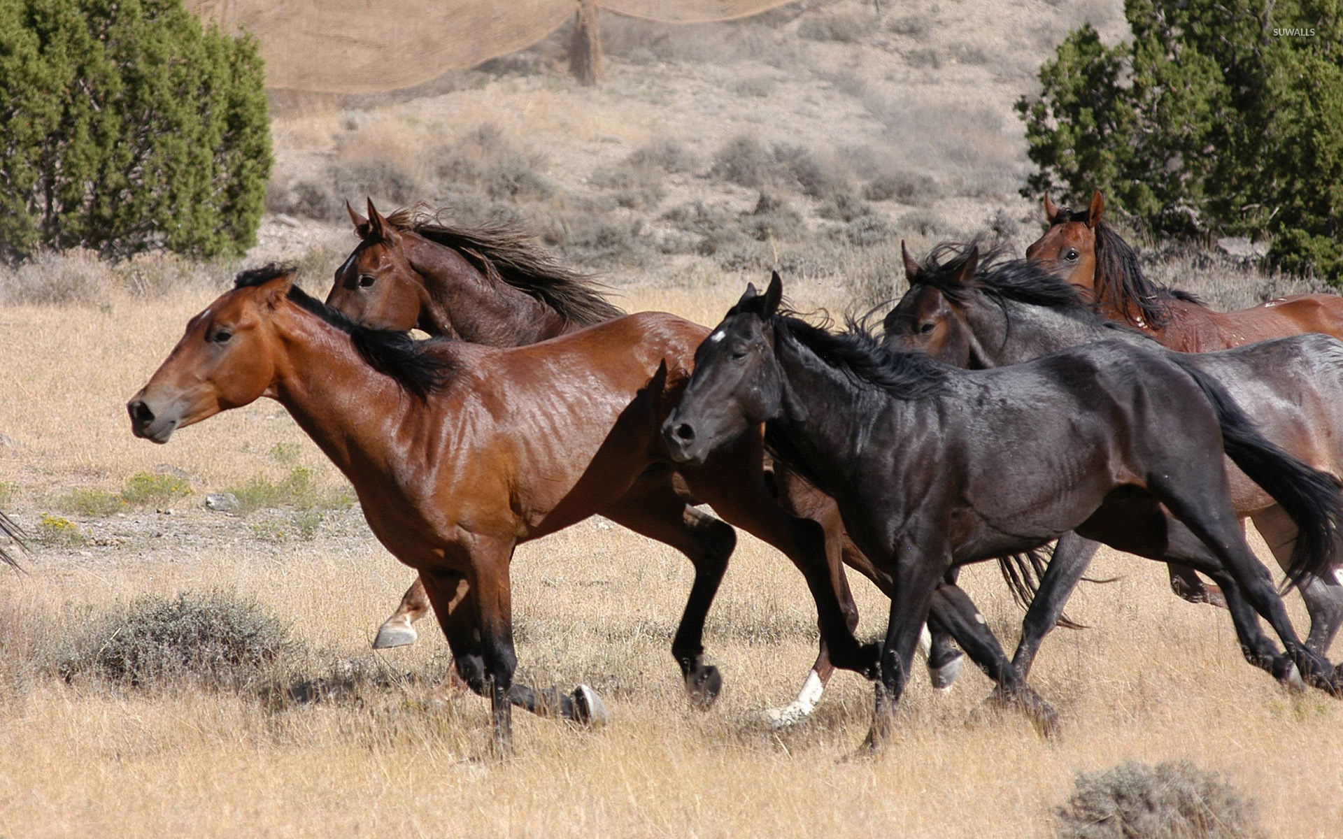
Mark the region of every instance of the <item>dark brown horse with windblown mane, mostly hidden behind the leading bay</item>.
<instances>
[{"instance_id":1,"label":"dark brown horse with windblown mane, mostly hidden behind the leading bay","mask_svg":"<svg viewBox=\"0 0 1343 839\"><path fill-rule=\"evenodd\" d=\"M560 266L530 239L510 227L462 228L439 221L422 208L383 216L368 201L368 216L345 205L359 246L336 271L326 303L365 326L406 330L419 328L435 336L457 336L492 346L518 346L567 334L619 315L600 298L590 278ZM689 365L690 358L677 360ZM843 534L834 502L787 468L772 473L779 502L792 515L810 518L826 532L827 560L842 560L877 585L878 572ZM684 498L688 498L682 493ZM689 501L693 501L688 498ZM1030 569L1023 568L1027 572ZM833 572L842 580L842 572ZM1019 575L1018 575L1019 576ZM1011 579L1011 575L1009 575ZM857 607L847 587L838 592L849 627L857 626ZM375 647L412 643L414 622L428 611L423 585L406 592L396 612L377 631ZM1052 711L1017 690L997 639L980 623L979 612L963 591L940 585L932 607L932 643L928 669L933 683L945 687L960 670L960 644L995 681L1006 678L1003 698L1019 699L1046 730ZM772 725L788 725L811 713L834 673L822 639L817 662L792 703L766 711Z\"/></svg>"}]
</instances>

